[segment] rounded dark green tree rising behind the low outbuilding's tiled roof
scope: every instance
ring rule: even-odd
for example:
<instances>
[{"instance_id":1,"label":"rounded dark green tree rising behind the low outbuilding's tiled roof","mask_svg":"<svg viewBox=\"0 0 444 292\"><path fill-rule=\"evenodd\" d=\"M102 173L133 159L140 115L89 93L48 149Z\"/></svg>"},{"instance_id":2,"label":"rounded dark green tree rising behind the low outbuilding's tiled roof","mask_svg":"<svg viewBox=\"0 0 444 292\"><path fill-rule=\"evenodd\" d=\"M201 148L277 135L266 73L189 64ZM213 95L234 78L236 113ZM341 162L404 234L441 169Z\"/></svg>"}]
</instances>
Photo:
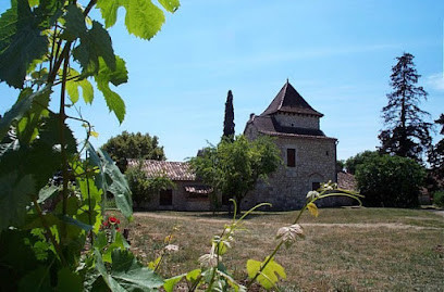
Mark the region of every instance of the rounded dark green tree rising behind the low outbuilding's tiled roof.
<instances>
[{"instance_id":1,"label":"rounded dark green tree rising behind the low outbuilding's tiled roof","mask_svg":"<svg viewBox=\"0 0 444 292\"><path fill-rule=\"evenodd\" d=\"M164 161L163 147L159 145L157 136L149 134L127 132L110 138L102 147L116 163L122 173L126 170L127 160Z\"/></svg>"}]
</instances>

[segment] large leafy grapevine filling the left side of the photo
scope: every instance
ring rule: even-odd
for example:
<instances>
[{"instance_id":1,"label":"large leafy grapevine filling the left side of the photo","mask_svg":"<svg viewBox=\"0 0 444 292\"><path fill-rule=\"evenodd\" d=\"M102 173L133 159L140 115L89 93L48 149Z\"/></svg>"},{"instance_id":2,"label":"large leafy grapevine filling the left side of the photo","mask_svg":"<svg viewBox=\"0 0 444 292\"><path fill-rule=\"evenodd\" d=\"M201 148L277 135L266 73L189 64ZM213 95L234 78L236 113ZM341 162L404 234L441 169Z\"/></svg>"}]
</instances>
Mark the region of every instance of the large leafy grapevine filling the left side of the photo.
<instances>
[{"instance_id":1,"label":"large leafy grapevine filling the left side of the photo","mask_svg":"<svg viewBox=\"0 0 444 292\"><path fill-rule=\"evenodd\" d=\"M113 86L127 81L107 28L125 12L130 34L150 39L177 0L11 0L0 17L0 81L20 90L0 119L0 275L4 291L150 290L163 281L141 266L108 220L113 195L132 217L131 191L107 153L89 143L92 126L72 109L91 104L92 84L119 122ZM104 21L90 18L99 9ZM58 97L55 97L58 96ZM71 110L70 110L71 109ZM72 113L74 114L72 114ZM79 112L78 112L79 113ZM77 143L70 123L86 128Z\"/></svg>"}]
</instances>

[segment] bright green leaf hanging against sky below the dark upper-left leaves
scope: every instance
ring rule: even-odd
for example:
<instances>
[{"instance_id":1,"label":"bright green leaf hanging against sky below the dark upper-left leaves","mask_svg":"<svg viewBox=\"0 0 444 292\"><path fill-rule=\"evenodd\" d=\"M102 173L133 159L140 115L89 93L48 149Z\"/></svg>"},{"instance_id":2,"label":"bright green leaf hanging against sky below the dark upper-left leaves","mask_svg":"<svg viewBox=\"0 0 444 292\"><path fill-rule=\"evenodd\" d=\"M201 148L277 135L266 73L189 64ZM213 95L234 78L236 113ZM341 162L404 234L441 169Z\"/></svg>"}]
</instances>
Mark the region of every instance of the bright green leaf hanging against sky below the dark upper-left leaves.
<instances>
[{"instance_id":1,"label":"bright green leaf hanging against sky below the dark upper-left leaves","mask_svg":"<svg viewBox=\"0 0 444 292\"><path fill-rule=\"evenodd\" d=\"M103 93L103 98L111 112L114 112L119 122L122 124L125 118L125 103L122 98L110 89L110 82L119 86L127 81L127 71L125 62L121 58L116 58L116 68L111 71L102 61L100 61L100 71L95 75L97 88Z\"/></svg>"}]
</instances>

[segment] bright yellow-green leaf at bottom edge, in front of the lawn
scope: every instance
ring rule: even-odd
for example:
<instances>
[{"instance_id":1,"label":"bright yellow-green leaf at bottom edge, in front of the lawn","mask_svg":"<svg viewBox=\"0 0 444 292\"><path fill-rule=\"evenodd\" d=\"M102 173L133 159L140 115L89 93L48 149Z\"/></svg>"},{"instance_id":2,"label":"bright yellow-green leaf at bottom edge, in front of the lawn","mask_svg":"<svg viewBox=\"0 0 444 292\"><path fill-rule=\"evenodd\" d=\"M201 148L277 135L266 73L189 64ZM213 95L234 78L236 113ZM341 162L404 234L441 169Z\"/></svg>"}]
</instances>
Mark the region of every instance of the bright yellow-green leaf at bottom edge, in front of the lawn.
<instances>
[{"instance_id":1,"label":"bright yellow-green leaf at bottom edge, in front of the lawn","mask_svg":"<svg viewBox=\"0 0 444 292\"><path fill-rule=\"evenodd\" d=\"M260 271L260 268L262 265L268 261L263 263L255 261L255 259L248 259L247 261L247 272L248 277L250 279L254 279L256 275ZM256 278L256 280L264 288L264 289L271 289L275 285L275 283L279 281L279 277L285 279L286 274L285 269L274 262L274 258L270 259L266 268L260 272L260 275Z\"/></svg>"}]
</instances>

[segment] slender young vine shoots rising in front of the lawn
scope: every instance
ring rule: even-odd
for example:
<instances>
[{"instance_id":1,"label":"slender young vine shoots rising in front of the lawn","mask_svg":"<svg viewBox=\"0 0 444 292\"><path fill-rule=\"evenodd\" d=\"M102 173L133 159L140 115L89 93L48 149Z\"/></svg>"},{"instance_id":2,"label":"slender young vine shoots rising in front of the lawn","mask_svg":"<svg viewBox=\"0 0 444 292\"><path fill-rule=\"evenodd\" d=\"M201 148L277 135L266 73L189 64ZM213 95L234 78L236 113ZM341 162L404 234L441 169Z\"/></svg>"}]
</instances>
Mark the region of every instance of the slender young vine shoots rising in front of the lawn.
<instances>
[{"instance_id":1,"label":"slender young vine shoots rising in front of the lawn","mask_svg":"<svg viewBox=\"0 0 444 292\"><path fill-rule=\"evenodd\" d=\"M237 217L237 204L235 200L231 200L234 204L234 216L230 225L224 227L224 230L219 236L214 236L211 240L210 252L199 257L200 268L194 269L187 274L172 277L165 280L164 290L171 292L180 281L186 281L188 291L205 290L205 291L248 291L254 283L259 283L264 289L276 288L280 279L286 278L285 268L276 261L275 255L285 246L291 247L297 240L304 239L304 228L298 224L305 211L309 211L311 215L318 217L319 210L316 205L318 200L329 196L348 196L355 199L361 204L360 194L344 189L338 189L337 183L331 181L323 183L317 191L307 193L307 203L300 210L295 220L288 225L281 227L276 232L276 246L264 257L263 261L248 259L246 263L248 279L243 282L236 281L229 268L223 263L223 256L232 247L234 234L237 231L245 230L243 227L244 219L255 210L260 208L268 203L262 203L247 211L240 218Z\"/></svg>"}]
</instances>

